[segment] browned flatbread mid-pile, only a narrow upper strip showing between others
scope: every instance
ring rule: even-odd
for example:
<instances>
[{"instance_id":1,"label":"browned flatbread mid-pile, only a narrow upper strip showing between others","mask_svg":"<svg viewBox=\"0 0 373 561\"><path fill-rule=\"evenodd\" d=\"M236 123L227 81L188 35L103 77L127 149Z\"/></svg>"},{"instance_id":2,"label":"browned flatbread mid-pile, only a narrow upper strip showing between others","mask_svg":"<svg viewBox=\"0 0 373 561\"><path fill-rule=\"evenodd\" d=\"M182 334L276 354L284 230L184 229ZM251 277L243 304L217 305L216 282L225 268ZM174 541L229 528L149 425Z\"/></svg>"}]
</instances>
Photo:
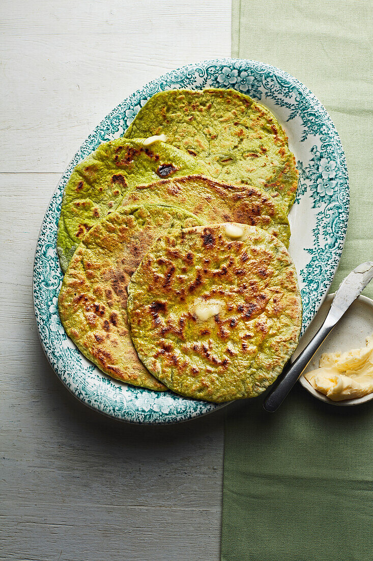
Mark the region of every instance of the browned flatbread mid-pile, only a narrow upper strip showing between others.
<instances>
[{"instance_id":1,"label":"browned flatbread mid-pile, only a narrow upper strip showing between others","mask_svg":"<svg viewBox=\"0 0 373 561\"><path fill-rule=\"evenodd\" d=\"M258 226L289 245L287 215L276 199L248 185L230 185L199 175L137 185L125 194L121 204L153 201L189 210L206 223L242 222Z\"/></svg>"}]
</instances>

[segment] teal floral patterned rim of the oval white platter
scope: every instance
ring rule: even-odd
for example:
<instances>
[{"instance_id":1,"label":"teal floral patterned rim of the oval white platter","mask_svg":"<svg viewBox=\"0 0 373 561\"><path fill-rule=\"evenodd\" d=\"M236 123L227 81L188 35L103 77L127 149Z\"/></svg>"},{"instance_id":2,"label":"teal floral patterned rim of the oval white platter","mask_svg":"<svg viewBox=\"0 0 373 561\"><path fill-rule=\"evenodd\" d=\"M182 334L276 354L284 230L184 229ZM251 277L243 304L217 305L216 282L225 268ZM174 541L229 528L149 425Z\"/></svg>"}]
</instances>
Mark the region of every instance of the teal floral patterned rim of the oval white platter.
<instances>
[{"instance_id":1,"label":"teal floral patterned rim of the oval white platter","mask_svg":"<svg viewBox=\"0 0 373 561\"><path fill-rule=\"evenodd\" d=\"M83 403L127 422L164 424L185 421L206 415L224 404L122 384L102 373L77 350L60 323L57 308L63 277L56 251L62 194L75 165L102 142L123 135L153 94L167 89L209 87L235 88L261 100L276 114L281 114L285 130L286 123L296 128L299 142L294 151L300 178L295 210L304 207L302 211L308 213L307 222L313 224L308 237L304 238L305 245L297 266L303 331L327 294L341 257L349 204L346 161L328 113L303 84L278 68L228 58L171 71L130 95L88 136L63 174L45 213L34 265L35 317L50 364L60 380Z\"/></svg>"}]
</instances>

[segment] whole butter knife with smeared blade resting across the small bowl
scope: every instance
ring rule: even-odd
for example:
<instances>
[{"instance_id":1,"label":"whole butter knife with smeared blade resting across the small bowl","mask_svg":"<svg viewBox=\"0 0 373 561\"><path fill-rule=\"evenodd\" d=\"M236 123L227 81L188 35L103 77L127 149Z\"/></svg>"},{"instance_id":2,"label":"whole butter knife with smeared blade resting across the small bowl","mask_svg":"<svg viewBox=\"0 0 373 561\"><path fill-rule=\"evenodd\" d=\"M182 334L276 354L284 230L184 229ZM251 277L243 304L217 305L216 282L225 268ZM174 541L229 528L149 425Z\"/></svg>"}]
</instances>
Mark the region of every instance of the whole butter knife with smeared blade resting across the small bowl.
<instances>
[{"instance_id":1,"label":"whole butter knife with smeared blade resting across the small bowl","mask_svg":"<svg viewBox=\"0 0 373 561\"><path fill-rule=\"evenodd\" d=\"M299 357L285 367L281 380L265 398L263 403L265 411L273 412L277 410L309 364L321 343L325 341L333 327L342 318L344 312L348 310L349 306L356 300L367 284L370 283L372 278L373 261L367 261L356 267L356 269L349 273L342 281L341 286L335 293L332 306L330 307L323 325L321 325L315 337L311 339L310 343L307 344Z\"/></svg>"}]
</instances>

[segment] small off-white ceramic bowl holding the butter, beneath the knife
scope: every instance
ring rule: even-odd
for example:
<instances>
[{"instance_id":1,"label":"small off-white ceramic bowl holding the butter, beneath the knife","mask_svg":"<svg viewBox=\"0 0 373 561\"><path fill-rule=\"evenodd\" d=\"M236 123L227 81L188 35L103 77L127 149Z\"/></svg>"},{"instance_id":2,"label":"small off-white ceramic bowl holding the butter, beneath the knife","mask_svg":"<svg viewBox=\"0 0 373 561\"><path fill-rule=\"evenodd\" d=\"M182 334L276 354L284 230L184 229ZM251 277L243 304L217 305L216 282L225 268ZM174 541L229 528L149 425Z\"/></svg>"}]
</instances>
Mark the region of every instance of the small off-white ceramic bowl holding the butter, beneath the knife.
<instances>
[{"instance_id":1,"label":"small off-white ceramic bowl holding the butter, beneath the knife","mask_svg":"<svg viewBox=\"0 0 373 561\"><path fill-rule=\"evenodd\" d=\"M304 349L307 343L313 338L316 331L320 328L324 319L327 317L330 306L332 305L334 294L329 294L324 303L320 306L320 310L316 315L314 321L306 329L297 352L294 358ZM319 350L315 353L310 364L307 366L304 373L315 370L319 366L319 359L324 352L337 352L349 351L353 348L365 347L366 338L373 333L373 300L366 296L359 296L355 302L349 307L346 314L339 320L338 324L329 333L327 339L321 345ZM373 393L367 396L358 397L355 399L345 399L344 401L333 401L325 396L323 393L315 390L309 381L307 381L302 374L299 379L301 385L310 392L314 397L336 406L351 406L366 403L373 399Z\"/></svg>"}]
</instances>

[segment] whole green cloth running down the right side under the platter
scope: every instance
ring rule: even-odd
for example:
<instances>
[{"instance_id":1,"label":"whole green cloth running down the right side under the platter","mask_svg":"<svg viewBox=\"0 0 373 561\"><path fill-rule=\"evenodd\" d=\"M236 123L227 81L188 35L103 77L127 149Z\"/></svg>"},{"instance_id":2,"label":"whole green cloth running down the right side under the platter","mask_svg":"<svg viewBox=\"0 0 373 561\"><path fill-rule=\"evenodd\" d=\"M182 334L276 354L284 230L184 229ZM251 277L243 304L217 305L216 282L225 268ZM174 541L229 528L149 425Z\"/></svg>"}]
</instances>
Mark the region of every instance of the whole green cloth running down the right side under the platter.
<instances>
[{"instance_id":1,"label":"whole green cloth running down the right side under the platter","mask_svg":"<svg viewBox=\"0 0 373 561\"><path fill-rule=\"evenodd\" d=\"M233 0L232 56L297 77L341 136L351 206L332 291L373 260L372 7ZM262 401L227 409L222 560L372 561L373 403L328 406L301 387L276 413Z\"/></svg>"}]
</instances>

